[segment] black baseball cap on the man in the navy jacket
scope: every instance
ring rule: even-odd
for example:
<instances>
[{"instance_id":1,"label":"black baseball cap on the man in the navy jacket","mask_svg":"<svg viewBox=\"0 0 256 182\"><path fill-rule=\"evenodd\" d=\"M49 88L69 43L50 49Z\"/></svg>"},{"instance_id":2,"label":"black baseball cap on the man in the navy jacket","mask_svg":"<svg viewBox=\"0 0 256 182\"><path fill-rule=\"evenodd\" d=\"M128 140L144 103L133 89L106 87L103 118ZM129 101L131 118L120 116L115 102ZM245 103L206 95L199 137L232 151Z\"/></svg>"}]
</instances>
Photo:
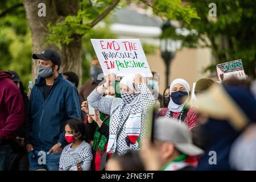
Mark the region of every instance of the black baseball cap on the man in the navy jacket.
<instances>
[{"instance_id":1,"label":"black baseball cap on the man in the navy jacket","mask_svg":"<svg viewBox=\"0 0 256 182\"><path fill-rule=\"evenodd\" d=\"M52 63L60 66L61 65L61 59L59 53L53 49L45 49L41 53L34 53L32 55L33 59L42 59L42 60L51 60Z\"/></svg>"}]
</instances>

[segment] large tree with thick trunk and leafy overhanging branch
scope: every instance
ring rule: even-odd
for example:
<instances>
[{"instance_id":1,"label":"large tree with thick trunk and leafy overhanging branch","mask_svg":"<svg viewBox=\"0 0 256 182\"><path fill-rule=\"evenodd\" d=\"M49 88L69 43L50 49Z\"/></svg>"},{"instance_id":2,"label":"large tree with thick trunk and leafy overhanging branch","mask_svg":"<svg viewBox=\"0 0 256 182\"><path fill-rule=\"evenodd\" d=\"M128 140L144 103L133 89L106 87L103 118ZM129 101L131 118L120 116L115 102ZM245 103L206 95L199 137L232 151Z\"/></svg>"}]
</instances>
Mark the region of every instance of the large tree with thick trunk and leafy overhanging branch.
<instances>
[{"instance_id":1,"label":"large tree with thick trunk and leafy overhanging branch","mask_svg":"<svg viewBox=\"0 0 256 182\"><path fill-rule=\"evenodd\" d=\"M40 2L46 4L46 17L37 15L36 7ZM184 19L189 23L193 18L198 18L196 11L189 6L181 5L180 0L23 0L32 33L32 51L40 52L48 43L48 47L59 49L63 59L62 70L76 72L81 77L82 36L105 19L115 7L123 7L130 2L150 6L156 15L169 19ZM32 75L35 77L36 73L34 63Z\"/></svg>"}]
</instances>

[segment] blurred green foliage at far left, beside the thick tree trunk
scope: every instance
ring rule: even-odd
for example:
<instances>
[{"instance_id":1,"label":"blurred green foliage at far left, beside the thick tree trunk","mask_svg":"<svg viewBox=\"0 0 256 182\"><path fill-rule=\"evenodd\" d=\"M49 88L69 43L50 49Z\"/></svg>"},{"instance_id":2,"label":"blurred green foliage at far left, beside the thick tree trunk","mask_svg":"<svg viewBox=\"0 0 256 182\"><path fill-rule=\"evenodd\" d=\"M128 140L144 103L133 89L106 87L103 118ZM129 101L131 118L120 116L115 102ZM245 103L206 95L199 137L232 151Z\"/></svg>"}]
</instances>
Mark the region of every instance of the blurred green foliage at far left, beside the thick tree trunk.
<instances>
[{"instance_id":1,"label":"blurred green foliage at far left, beside the thick tree trunk","mask_svg":"<svg viewBox=\"0 0 256 182\"><path fill-rule=\"evenodd\" d=\"M22 1L0 2L0 70L16 71L27 89L31 80L31 34Z\"/></svg>"}]
</instances>

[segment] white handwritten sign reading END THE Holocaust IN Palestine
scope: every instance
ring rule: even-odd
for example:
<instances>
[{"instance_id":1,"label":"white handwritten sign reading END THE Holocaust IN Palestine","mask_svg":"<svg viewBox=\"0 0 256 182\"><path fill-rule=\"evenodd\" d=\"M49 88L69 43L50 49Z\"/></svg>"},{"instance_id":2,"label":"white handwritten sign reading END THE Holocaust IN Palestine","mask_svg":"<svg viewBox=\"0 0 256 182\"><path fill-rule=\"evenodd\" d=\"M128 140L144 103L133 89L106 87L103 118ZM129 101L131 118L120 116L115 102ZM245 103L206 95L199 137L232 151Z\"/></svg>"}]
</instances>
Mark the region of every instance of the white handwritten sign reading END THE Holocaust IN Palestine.
<instances>
[{"instance_id":1,"label":"white handwritten sign reading END THE Holocaust IN Palestine","mask_svg":"<svg viewBox=\"0 0 256 182\"><path fill-rule=\"evenodd\" d=\"M139 39L90 39L104 75L152 77Z\"/></svg>"}]
</instances>

